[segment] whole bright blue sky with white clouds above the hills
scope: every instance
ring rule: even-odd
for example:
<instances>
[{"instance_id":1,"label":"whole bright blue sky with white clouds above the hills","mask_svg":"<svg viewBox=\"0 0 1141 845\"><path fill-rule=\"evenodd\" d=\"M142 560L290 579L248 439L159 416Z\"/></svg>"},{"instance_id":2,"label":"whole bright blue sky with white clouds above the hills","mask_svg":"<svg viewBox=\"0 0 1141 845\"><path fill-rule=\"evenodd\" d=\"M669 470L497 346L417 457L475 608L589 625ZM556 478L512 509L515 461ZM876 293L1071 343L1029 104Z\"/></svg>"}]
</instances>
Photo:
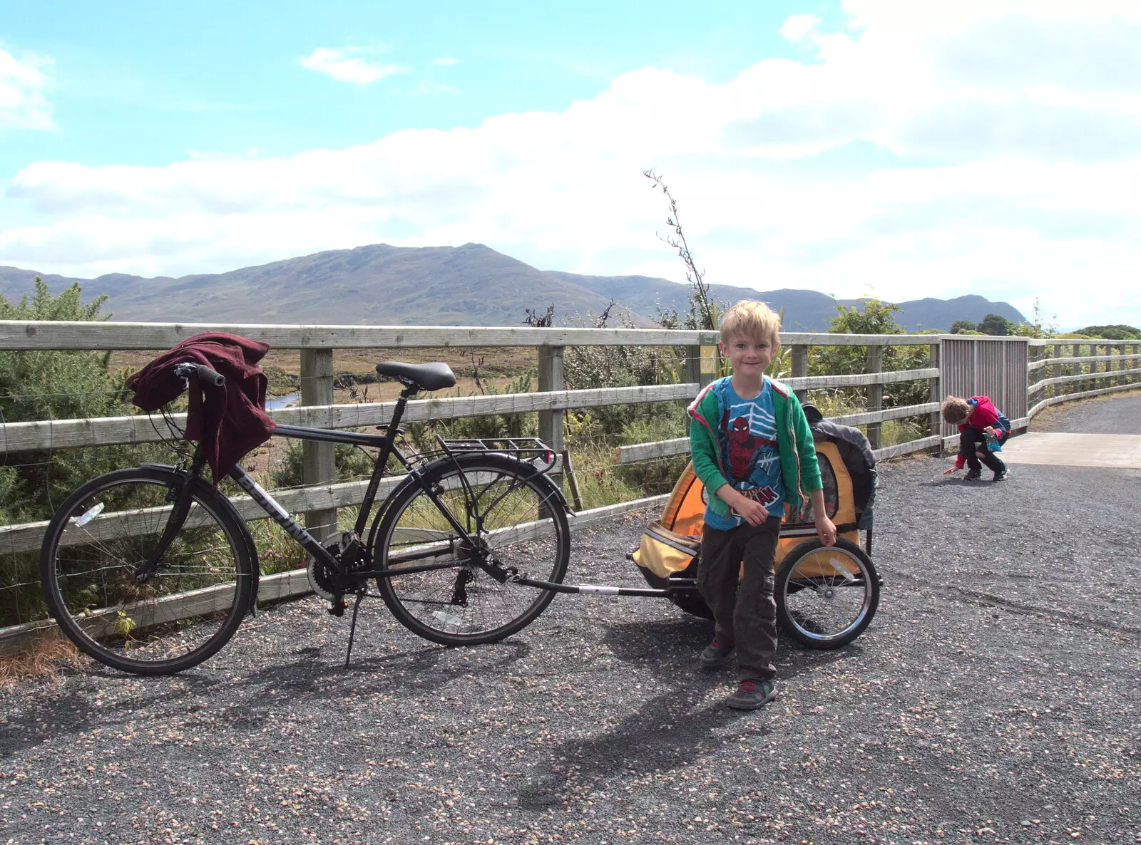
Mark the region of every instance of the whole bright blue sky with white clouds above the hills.
<instances>
[{"instance_id":1,"label":"whole bright blue sky with white clouds above the hills","mask_svg":"<svg viewBox=\"0 0 1141 845\"><path fill-rule=\"evenodd\" d=\"M714 284L1141 325L1136 0L0 9L0 265L476 242L683 282L652 170Z\"/></svg>"}]
</instances>

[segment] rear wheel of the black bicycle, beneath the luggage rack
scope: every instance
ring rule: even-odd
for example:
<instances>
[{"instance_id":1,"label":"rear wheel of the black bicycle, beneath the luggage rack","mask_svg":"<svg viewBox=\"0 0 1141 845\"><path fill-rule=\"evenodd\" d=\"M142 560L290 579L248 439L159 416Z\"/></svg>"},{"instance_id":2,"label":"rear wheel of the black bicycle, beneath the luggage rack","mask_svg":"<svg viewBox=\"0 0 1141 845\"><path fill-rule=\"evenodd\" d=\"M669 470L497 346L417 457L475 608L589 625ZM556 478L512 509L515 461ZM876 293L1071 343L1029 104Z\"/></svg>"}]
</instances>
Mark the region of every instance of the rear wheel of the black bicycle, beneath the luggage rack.
<instances>
[{"instance_id":1,"label":"rear wheel of the black bicycle, beneath the luggage rack","mask_svg":"<svg viewBox=\"0 0 1141 845\"><path fill-rule=\"evenodd\" d=\"M429 469L424 487L463 526L455 530L424 489L398 491L370 547L381 595L402 625L444 645L496 642L529 625L555 596L500 583L479 566L488 554L540 580L561 583L570 530L551 484L521 462L501 455L464 455ZM435 568L399 575L402 568Z\"/></svg>"}]
</instances>

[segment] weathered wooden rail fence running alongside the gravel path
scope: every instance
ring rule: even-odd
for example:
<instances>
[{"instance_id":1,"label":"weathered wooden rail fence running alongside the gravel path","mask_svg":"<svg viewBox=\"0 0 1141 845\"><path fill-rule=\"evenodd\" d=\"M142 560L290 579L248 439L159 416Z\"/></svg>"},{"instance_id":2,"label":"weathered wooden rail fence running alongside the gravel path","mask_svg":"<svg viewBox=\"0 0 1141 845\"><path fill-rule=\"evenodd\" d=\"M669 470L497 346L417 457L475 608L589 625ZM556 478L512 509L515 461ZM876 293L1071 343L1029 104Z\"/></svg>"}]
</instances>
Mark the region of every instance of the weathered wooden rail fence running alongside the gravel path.
<instances>
[{"instance_id":1,"label":"weathered wooden rail fence running alongside the gravel path","mask_svg":"<svg viewBox=\"0 0 1141 845\"><path fill-rule=\"evenodd\" d=\"M395 403L356 405L333 404L333 351L337 349L408 348L487 348L532 347L536 350L539 391L499 396L419 399L408 403L407 421L454 420L489 414L536 412L540 437L556 452L563 452L564 417L568 409L592 408L640 403L688 400L714 377L717 334L712 332L638 330L638 328L531 328L531 327L440 327L440 326L290 326L290 325L216 325L157 323L65 323L0 320L0 351L5 350L164 350L201 332L229 332L261 340L275 349L296 349L300 355L301 406L270 411L280 423L322 428L362 428L387 423ZM1036 341L1026 339L971 338L964 343L958 335L852 335L782 333L782 344L791 350L791 376L783 382L803 398L809 390L822 388L866 388L867 409L858 414L834 417L836 422L866 426L877 457L885 458L921 449L941 449L954 437L942 430L939 403L948 385L970 395L988 388L1012 416L1017 428L1057 401L1083 398L1127 389L1135 384L1139 367L1139 344L1117 341ZM989 347L998 344L995 357ZM564 356L567 347L639 346L680 347L683 376L674 384L650 384L598 390L568 390L565 383ZM885 347L925 347L931 366L882 371ZM1132 355L1126 354L1131 346ZM864 347L865 372L848 375L808 375L810 347ZM1081 348L1091 350L1082 356ZM965 365L971 349L974 366ZM1069 357L1062 352L1073 350ZM1101 349L1103 355L1095 355ZM978 366L982 350L984 366ZM1052 352L1052 357L1044 357ZM989 357L988 357L989 356ZM942 366L940 366L942 361ZM1102 369L1098 369L1103 366ZM1046 367L1051 377L1031 381ZM1063 368L1067 374L1063 374ZM1083 368L1085 371L1083 372ZM1111 373L1111 375L1109 375ZM1001 380L995 390L993 380ZM990 381L988 381L988 379ZM884 408L883 385L903 381L928 382L928 401L905 407ZM1091 390L1073 390L1081 382L1093 381ZM1017 388L1014 387L1017 385ZM1013 392L1011 392L1013 391ZM1049 395L1049 396L1047 396ZM1013 397L1013 398L1012 398ZM1033 401L1033 404L1030 404ZM1021 415L1025 409L1025 416ZM926 433L908 442L884 447L881 426L885 421L921 416ZM181 425L185 417L172 422ZM135 415L81 420L41 420L0 423L0 460L9 453L43 452L113 444L152 442L173 434L157 416ZM688 439L678 438L650 444L625 446L617 450L616 463L625 464L688 452ZM309 526L335 525L335 509L359 504L366 482L337 482L331 444L306 442L302 477L306 487L282 491L275 497L293 512L305 512ZM655 496L634 502L581 512L572 520L583 526L622 510L633 510L662 502ZM244 497L235 497L238 511L246 519L265 514ZM39 547L46 522L0 526L0 554L19 554ZM296 577L294 577L294 580ZM267 585L266 588L275 588ZM26 625L18 626L27 628ZM10 631L9 633L16 633ZM0 642L5 640L0 631Z\"/></svg>"}]
</instances>

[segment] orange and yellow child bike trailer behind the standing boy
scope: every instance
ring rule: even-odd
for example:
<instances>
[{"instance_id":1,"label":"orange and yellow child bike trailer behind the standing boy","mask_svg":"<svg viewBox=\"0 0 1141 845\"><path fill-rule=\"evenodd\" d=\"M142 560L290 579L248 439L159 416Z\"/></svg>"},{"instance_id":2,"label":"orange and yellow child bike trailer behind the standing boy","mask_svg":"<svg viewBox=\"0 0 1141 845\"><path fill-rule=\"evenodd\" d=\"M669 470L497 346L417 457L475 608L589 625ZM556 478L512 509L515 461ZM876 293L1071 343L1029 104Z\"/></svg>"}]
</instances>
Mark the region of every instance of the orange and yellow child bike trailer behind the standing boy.
<instances>
[{"instance_id":1,"label":"orange and yellow child bike trailer behind the standing boy","mask_svg":"<svg viewBox=\"0 0 1141 845\"><path fill-rule=\"evenodd\" d=\"M880 603L881 579L872 563L872 506L875 457L859 429L824 420L809 403L804 413L816 441L824 503L836 526L836 544L816 535L812 506L793 511L780 527L774 594L777 621L793 640L815 649L835 649L855 640ZM691 585L697 577L706 491L687 464L662 511L628 555L646 582L665 590L688 614L712 618ZM859 545L865 531L866 544Z\"/></svg>"}]
</instances>

